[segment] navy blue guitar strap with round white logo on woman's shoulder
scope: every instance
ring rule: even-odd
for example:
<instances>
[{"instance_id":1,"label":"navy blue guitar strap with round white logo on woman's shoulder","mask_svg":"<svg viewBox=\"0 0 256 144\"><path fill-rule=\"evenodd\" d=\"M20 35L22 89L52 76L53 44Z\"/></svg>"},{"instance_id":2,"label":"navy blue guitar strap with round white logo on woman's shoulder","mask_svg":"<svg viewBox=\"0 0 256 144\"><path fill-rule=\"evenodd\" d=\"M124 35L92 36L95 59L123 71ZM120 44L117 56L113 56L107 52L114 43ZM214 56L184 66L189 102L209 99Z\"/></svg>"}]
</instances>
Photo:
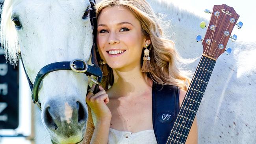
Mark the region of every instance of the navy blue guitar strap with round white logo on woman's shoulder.
<instances>
[{"instance_id":1,"label":"navy blue guitar strap with round white logo on woman's shoulder","mask_svg":"<svg viewBox=\"0 0 256 144\"><path fill-rule=\"evenodd\" d=\"M176 120L179 106L180 88L172 85L152 86L153 128L158 144L166 144Z\"/></svg>"}]
</instances>

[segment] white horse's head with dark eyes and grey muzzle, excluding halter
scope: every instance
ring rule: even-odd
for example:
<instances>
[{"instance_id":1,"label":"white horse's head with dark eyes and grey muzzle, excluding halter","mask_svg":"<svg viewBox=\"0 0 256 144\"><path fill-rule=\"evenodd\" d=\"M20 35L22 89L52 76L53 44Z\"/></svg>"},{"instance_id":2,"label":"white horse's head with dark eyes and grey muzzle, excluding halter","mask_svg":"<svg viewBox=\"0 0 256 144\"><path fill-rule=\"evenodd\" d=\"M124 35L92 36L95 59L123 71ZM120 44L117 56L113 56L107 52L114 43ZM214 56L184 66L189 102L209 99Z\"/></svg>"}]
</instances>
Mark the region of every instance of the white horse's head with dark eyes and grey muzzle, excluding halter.
<instances>
[{"instance_id":1,"label":"white horse's head with dark eyes and grey muzzle, excluding halter","mask_svg":"<svg viewBox=\"0 0 256 144\"><path fill-rule=\"evenodd\" d=\"M89 60L93 44L89 0L6 0L1 38L6 57L17 63L21 52L32 83L50 63ZM71 70L54 71L39 87L42 120L57 143L79 142L85 133L87 77Z\"/></svg>"}]
</instances>

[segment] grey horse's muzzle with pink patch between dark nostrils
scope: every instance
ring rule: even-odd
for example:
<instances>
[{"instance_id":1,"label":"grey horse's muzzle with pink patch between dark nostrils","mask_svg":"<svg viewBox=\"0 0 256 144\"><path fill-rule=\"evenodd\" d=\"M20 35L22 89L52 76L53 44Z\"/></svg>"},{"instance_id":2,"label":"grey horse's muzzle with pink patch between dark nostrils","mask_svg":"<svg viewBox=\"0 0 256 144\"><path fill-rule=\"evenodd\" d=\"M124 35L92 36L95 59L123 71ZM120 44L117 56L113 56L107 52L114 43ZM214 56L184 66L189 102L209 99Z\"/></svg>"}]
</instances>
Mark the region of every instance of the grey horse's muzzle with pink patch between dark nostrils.
<instances>
[{"instance_id":1,"label":"grey horse's muzzle with pink patch between dark nostrils","mask_svg":"<svg viewBox=\"0 0 256 144\"><path fill-rule=\"evenodd\" d=\"M43 108L43 122L50 131L64 138L84 131L88 118L85 102L73 97L64 100L49 100Z\"/></svg>"}]
</instances>

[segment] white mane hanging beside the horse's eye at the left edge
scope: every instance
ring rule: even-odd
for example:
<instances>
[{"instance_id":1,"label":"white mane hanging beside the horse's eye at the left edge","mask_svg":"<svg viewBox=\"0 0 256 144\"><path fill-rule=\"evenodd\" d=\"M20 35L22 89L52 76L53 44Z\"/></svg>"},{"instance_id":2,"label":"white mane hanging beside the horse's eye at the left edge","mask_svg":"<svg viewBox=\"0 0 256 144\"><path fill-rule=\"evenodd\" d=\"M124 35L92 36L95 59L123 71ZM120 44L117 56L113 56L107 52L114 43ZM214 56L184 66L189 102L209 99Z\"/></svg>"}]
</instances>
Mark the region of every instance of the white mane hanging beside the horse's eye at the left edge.
<instances>
[{"instance_id":1,"label":"white mane hanging beside the horse's eye at the left edge","mask_svg":"<svg viewBox=\"0 0 256 144\"><path fill-rule=\"evenodd\" d=\"M17 6L21 0L5 0L1 17L0 37L2 48L5 49L5 57L11 64L17 65L19 42L17 41L17 31L11 21L13 7Z\"/></svg>"}]
</instances>

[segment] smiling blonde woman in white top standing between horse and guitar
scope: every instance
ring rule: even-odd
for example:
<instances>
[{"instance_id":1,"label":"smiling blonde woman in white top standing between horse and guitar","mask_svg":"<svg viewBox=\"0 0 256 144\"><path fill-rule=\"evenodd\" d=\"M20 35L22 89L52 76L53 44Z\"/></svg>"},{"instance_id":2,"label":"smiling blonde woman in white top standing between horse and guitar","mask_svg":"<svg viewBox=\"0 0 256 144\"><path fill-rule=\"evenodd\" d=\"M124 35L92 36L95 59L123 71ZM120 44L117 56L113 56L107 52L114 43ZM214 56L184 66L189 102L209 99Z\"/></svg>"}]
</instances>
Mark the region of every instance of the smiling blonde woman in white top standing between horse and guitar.
<instances>
[{"instance_id":1,"label":"smiling blonde woman in white top standing between horse and guitar","mask_svg":"<svg viewBox=\"0 0 256 144\"><path fill-rule=\"evenodd\" d=\"M189 84L176 65L180 57L174 43L164 38L160 19L145 0L102 0L96 4L96 13L104 77L100 92L86 96L91 113L85 143L157 144L153 87L173 85L178 89L173 95L178 95L178 103L167 105L173 108L175 120ZM197 144L196 119L186 144Z\"/></svg>"}]
</instances>

